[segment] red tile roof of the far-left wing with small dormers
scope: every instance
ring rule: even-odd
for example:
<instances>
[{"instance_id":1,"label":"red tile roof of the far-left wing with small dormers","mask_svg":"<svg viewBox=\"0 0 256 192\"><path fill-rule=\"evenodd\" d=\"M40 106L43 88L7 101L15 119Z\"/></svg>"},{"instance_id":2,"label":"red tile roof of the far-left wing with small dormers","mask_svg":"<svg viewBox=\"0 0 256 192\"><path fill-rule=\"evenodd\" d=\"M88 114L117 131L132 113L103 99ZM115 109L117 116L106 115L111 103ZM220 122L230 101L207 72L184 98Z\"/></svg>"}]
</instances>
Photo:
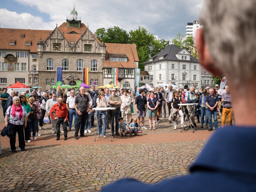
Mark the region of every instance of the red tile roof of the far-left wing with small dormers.
<instances>
[{"instance_id":1,"label":"red tile roof of the far-left wing with small dormers","mask_svg":"<svg viewBox=\"0 0 256 192\"><path fill-rule=\"evenodd\" d=\"M50 30L32 30L32 29L10 29L0 28L0 49L6 50L28 50L37 52L37 43L49 36ZM24 38L20 36L25 35ZM9 45L11 41L16 41L15 45ZM31 46L26 46L26 42L32 42Z\"/></svg>"}]
</instances>

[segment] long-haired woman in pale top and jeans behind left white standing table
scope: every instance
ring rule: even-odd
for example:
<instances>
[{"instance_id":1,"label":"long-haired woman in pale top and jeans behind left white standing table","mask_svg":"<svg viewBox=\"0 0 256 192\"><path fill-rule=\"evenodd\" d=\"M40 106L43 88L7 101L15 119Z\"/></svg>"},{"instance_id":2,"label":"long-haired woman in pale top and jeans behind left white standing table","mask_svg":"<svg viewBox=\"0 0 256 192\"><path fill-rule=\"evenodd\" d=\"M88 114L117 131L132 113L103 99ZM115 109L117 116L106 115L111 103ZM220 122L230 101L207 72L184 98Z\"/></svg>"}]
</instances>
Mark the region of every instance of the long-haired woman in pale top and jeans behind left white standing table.
<instances>
[{"instance_id":1,"label":"long-haired woman in pale top and jeans behind left white standing table","mask_svg":"<svg viewBox=\"0 0 256 192\"><path fill-rule=\"evenodd\" d=\"M108 100L105 98L103 91L100 91L99 98L96 100L97 108L103 108L108 106ZM102 118L103 128L101 130L101 121L98 122L98 133L101 137L106 137L106 126L107 126L107 111L96 111L96 115L99 115L99 119Z\"/></svg>"}]
</instances>

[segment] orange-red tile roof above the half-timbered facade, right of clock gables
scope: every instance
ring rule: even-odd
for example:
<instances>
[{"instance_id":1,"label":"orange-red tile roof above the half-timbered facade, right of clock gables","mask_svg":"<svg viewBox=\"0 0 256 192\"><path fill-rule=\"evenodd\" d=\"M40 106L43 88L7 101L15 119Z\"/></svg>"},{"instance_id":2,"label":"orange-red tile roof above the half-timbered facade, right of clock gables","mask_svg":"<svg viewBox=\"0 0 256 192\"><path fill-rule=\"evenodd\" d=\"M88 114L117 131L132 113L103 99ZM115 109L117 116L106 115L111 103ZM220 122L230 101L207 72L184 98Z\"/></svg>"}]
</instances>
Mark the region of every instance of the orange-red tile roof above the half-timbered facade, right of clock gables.
<instances>
[{"instance_id":1,"label":"orange-red tile roof above the half-timbered facade, right of clock gables","mask_svg":"<svg viewBox=\"0 0 256 192\"><path fill-rule=\"evenodd\" d=\"M135 61L139 61L135 44L106 43L106 60L102 62L103 68L136 68ZM109 55L123 57L127 55L127 62L110 61Z\"/></svg>"}]
</instances>

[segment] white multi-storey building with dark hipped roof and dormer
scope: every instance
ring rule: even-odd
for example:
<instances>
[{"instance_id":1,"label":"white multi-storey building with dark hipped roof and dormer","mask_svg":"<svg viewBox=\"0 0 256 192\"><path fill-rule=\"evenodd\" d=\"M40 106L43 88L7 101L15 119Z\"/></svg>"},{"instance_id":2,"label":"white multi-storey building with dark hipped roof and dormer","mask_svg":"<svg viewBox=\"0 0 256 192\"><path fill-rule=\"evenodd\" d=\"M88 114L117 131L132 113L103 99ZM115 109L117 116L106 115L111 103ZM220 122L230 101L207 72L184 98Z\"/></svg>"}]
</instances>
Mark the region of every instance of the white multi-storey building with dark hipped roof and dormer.
<instances>
[{"instance_id":1,"label":"white multi-storey building with dark hipped roof and dormer","mask_svg":"<svg viewBox=\"0 0 256 192\"><path fill-rule=\"evenodd\" d=\"M144 63L149 82L176 84L178 87L201 87L201 65L186 49L180 49L173 41L163 51Z\"/></svg>"}]
</instances>

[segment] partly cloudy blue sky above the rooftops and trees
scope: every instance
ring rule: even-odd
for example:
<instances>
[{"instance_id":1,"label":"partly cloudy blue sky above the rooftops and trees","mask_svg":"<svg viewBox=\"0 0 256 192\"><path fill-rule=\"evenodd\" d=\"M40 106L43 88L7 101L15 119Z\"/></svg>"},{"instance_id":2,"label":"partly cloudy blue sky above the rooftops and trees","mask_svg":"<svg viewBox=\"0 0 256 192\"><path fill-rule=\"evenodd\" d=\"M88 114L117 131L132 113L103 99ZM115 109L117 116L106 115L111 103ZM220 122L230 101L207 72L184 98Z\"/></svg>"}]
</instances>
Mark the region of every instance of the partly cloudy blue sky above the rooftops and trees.
<instances>
[{"instance_id":1,"label":"partly cloudy blue sky above the rooftops and trees","mask_svg":"<svg viewBox=\"0 0 256 192\"><path fill-rule=\"evenodd\" d=\"M95 33L118 26L127 32L144 27L171 40L186 34L188 22L198 20L203 0L1 0L0 27L53 30L75 10Z\"/></svg>"}]
</instances>

